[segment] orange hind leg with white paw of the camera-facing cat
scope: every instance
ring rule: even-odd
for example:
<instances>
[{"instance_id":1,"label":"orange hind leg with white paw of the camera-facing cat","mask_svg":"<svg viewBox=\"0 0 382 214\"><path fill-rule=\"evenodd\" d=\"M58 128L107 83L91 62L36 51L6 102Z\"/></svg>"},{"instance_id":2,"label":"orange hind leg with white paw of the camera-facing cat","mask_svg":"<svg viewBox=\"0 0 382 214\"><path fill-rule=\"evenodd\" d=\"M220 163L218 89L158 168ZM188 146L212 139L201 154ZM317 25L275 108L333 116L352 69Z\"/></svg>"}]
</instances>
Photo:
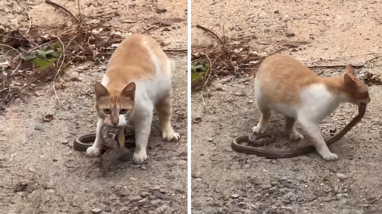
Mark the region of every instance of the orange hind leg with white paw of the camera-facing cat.
<instances>
[{"instance_id":1,"label":"orange hind leg with white paw of the camera-facing cat","mask_svg":"<svg viewBox=\"0 0 382 214\"><path fill-rule=\"evenodd\" d=\"M171 126L171 93L155 106L159 118L159 128L162 131L162 141L178 141L180 135Z\"/></svg>"}]
</instances>

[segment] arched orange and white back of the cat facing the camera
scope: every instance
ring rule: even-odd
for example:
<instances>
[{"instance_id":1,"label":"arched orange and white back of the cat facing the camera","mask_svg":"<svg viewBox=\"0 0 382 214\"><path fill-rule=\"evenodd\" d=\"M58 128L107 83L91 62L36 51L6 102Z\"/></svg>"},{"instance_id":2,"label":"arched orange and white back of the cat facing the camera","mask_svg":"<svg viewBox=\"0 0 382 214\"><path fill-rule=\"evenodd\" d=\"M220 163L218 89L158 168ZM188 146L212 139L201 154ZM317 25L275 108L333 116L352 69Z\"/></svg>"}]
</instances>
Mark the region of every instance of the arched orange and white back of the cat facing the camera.
<instances>
[{"instance_id":1,"label":"arched orange and white back of the cat facing the camera","mask_svg":"<svg viewBox=\"0 0 382 214\"><path fill-rule=\"evenodd\" d=\"M109 80L147 80L158 74L170 74L171 64L159 44L150 36L133 34L123 40L110 58Z\"/></svg>"}]
</instances>

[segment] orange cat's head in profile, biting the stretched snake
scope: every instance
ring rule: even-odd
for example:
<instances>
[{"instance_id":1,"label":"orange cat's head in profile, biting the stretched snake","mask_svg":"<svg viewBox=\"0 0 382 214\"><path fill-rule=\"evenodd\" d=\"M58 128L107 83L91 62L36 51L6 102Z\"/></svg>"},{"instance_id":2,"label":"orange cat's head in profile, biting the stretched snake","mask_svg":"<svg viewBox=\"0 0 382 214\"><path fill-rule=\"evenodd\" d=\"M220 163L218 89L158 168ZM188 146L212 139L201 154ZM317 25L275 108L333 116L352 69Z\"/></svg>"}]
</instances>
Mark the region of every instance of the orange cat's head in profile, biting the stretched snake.
<instances>
[{"instance_id":1,"label":"orange cat's head in profile, biting the stretched snake","mask_svg":"<svg viewBox=\"0 0 382 214\"><path fill-rule=\"evenodd\" d=\"M346 66L343 80L345 82L344 91L353 104L360 106L361 104L368 104L370 102L367 85L356 77L351 65Z\"/></svg>"}]
</instances>

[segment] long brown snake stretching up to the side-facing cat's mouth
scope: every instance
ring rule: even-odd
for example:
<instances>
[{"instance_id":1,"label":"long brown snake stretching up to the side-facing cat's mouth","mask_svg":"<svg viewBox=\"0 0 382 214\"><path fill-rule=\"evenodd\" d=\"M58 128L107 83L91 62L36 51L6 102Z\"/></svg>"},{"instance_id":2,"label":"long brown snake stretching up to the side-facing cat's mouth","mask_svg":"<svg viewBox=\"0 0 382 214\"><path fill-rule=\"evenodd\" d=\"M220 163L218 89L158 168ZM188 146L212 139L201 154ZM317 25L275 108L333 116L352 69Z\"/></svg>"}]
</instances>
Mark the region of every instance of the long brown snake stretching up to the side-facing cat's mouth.
<instances>
[{"instance_id":1,"label":"long brown snake stretching up to the side-facing cat's mouth","mask_svg":"<svg viewBox=\"0 0 382 214\"><path fill-rule=\"evenodd\" d=\"M356 115L353 118L353 120L351 120L348 123L348 125L346 125L338 134L336 134L335 136L329 139L325 139L325 143L329 145L341 139L346 133L348 133L348 131L351 128L353 128L354 125L356 125L361 120L365 112L366 112L366 104L361 104L358 107L358 115ZM271 134L265 134L263 136L269 137L269 135ZM273 136L270 138L273 139ZM303 141L303 140L300 140L300 141ZM231 143L232 149L235 150L236 152L243 152L243 153L258 155L258 156L262 156L266 158L290 158L290 157L295 157L299 155L304 155L314 150L314 147L309 144L301 146L301 147L289 149L289 150L267 150L262 147L256 148L256 147L240 145L239 144L240 142L256 143L248 135L243 135L233 139Z\"/></svg>"}]
</instances>

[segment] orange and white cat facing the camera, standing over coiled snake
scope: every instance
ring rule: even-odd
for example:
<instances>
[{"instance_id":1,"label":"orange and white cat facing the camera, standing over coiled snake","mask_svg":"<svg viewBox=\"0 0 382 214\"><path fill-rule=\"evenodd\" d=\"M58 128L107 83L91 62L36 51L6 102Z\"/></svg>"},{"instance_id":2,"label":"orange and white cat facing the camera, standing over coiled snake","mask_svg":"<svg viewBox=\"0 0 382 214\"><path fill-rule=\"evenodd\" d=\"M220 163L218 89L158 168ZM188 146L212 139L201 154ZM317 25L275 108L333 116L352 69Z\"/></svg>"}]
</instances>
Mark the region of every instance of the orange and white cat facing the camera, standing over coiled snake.
<instances>
[{"instance_id":1,"label":"orange and white cat facing the camera, standing over coiled snake","mask_svg":"<svg viewBox=\"0 0 382 214\"><path fill-rule=\"evenodd\" d=\"M125 145L125 128L133 127L136 147L133 161L146 160L153 109L159 118L162 140L178 141L180 135L171 126L172 72L175 62L153 38L133 34L123 40L110 58L101 83L95 83L97 134L87 156L99 156L102 125L118 128L120 148Z\"/></svg>"}]
</instances>

